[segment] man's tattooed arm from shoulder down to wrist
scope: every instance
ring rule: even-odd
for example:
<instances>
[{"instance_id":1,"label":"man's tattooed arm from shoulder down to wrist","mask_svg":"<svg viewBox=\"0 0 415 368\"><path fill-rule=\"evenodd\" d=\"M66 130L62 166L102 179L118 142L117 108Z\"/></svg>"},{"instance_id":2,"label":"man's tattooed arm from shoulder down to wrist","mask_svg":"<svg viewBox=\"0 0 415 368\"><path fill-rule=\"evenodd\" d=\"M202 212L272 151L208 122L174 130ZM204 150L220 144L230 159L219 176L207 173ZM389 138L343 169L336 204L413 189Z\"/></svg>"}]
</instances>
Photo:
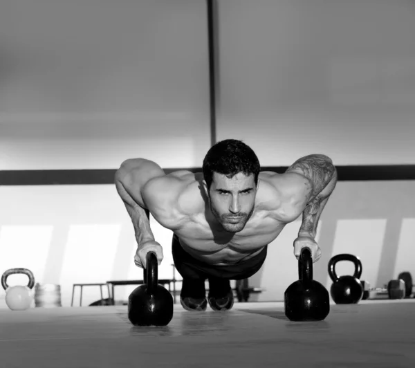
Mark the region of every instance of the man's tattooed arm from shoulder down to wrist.
<instances>
[{"instance_id":1,"label":"man's tattooed arm from shoulder down to wrist","mask_svg":"<svg viewBox=\"0 0 415 368\"><path fill-rule=\"evenodd\" d=\"M320 215L337 183L338 176L333 161L327 156L312 154L299 158L286 172L300 174L307 179L307 204L298 236L314 240Z\"/></svg>"}]
</instances>

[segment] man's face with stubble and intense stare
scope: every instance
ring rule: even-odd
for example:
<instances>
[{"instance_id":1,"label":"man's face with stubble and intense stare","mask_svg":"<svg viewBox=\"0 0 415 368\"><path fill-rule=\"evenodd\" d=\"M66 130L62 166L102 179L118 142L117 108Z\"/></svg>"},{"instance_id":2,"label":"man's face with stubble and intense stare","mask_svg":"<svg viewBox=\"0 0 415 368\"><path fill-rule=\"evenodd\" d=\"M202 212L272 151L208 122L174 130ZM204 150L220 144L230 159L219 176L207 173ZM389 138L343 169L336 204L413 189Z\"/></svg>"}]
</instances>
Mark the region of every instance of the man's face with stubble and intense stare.
<instances>
[{"instance_id":1,"label":"man's face with stubble and intense stare","mask_svg":"<svg viewBox=\"0 0 415 368\"><path fill-rule=\"evenodd\" d=\"M246 176L239 173L232 178L214 172L212 185L208 192L210 209L228 232L243 230L254 211L255 195L257 194L254 174Z\"/></svg>"}]
</instances>

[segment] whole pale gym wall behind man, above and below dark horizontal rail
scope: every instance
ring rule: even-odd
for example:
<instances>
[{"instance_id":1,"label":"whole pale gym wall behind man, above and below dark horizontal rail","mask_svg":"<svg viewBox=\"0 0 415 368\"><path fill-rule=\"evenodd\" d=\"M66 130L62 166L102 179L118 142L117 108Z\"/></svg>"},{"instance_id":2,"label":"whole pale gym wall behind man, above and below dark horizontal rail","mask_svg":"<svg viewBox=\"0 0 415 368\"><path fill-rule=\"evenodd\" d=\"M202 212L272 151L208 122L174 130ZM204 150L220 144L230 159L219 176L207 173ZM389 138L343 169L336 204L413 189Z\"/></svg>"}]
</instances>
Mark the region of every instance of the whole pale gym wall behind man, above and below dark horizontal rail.
<instances>
[{"instance_id":1,"label":"whole pale gym wall behind man, above and below dark horizontal rail","mask_svg":"<svg viewBox=\"0 0 415 368\"><path fill-rule=\"evenodd\" d=\"M205 6L3 4L0 169L116 168L137 156L201 166L210 146ZM219 1L218 139L245 140L262 165L316 151L335 165L414 164L413 14L400 0ZM402 268L415 273L414 208L410 181L338 183L322 215L317 279L326 283L326 262L347 250L376 286ZM160 277L170 277L171 233L152 226L166 249ZM267 289L260 300L280 300L297 278L298 226L252 277ZM32 269L61 284L64 305L75 282L141 276L135 248L113 185L0 187L0 272ZM98 300L98 288L86 295Z\"/></svg>"}]
</instances>

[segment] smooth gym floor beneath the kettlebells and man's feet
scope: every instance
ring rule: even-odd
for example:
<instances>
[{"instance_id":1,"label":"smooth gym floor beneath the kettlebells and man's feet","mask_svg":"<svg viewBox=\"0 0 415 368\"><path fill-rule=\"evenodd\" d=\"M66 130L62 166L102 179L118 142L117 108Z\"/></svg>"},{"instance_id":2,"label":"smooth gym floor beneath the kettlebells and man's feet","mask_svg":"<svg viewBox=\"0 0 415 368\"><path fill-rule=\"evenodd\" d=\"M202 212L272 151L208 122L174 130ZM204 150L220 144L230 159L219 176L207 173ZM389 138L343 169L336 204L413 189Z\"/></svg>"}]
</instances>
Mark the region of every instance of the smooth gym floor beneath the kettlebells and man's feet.
<instances>
[{"instance_id":1,"label":"smooth gym floor beneath the kettlebells and man's feet","mask_svg":"<svg viewBox=\"0 0 415 368\"><path fill-rule=\"evenodd\" d=\"M331 305L290 322L282 302L184 311L168 326L132 326L127 306L0 310L1 368L415 366L415 299Z\"/></svg>"}]
</instances>

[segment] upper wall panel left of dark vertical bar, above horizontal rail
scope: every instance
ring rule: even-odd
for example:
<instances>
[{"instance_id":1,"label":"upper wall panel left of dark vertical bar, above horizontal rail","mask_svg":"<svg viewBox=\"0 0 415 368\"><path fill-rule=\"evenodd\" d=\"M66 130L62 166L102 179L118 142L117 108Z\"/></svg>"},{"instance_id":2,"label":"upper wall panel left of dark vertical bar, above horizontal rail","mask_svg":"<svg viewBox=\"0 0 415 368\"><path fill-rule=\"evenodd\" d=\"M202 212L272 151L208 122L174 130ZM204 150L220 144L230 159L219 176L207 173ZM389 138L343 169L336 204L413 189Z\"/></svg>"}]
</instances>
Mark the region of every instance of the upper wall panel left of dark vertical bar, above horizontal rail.
<instances>
[{"instance_id":1,"label":"upper wall panel left of dark vertical bar, above horizontal rail","mask_svg":"<svg viewBox=\"0 0 415 368\"><path fill-rule=\"evenodd\" d=\"M204 1L16 0L0 12L0 169L201 165Z\"/></svg>"}]
</instances>

